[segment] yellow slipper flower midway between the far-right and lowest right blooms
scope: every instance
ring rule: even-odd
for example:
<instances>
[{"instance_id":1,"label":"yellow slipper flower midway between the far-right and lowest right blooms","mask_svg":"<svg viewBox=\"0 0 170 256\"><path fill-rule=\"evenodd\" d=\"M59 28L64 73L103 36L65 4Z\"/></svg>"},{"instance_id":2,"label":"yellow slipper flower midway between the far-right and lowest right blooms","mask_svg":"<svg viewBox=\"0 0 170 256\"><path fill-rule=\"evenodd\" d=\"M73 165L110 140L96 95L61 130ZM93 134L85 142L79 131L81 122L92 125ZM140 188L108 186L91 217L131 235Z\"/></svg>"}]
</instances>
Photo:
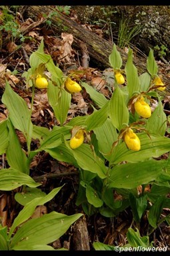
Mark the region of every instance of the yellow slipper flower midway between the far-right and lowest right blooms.
<instances>
[{"instance_id":1,"label":"yellow slipper flower midway between the far-right and lowest right blooms","mask_svg":"<svg viewBox=\"0 0 170 256\"><path fill-rule=\"evenodd\" d=\"M147 102L145 102L143 96L141 96L134 104L135 111L139 116L143 118L149 118L151 116L151 108Z\"/></svg>"}]
</instances>

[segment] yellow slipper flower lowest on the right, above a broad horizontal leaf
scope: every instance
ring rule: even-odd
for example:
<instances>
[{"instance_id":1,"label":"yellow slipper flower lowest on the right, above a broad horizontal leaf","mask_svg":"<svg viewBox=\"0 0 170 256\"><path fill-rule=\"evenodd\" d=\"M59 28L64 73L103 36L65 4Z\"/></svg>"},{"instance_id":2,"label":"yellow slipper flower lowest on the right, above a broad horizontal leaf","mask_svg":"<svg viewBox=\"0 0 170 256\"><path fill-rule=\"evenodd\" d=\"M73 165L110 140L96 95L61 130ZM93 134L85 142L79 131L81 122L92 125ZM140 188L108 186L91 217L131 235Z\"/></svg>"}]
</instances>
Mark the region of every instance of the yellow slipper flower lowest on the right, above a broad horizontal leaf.
<instances>
[{"instance_id":1,"label":"yellow slipper flower lowest on the right, above a broad horizontal leaf","mask_svg":"<svg viewBox=\"0 0 170 256\"><path fill-rule=\"evenodd\" d=\"M125 144L127 145L127 148L134 150L134 151L139 151L141 149L141 142L139 140L139 137L131 128L125 132L124 136L124 141Z\"/></svg>"}]
</instances>

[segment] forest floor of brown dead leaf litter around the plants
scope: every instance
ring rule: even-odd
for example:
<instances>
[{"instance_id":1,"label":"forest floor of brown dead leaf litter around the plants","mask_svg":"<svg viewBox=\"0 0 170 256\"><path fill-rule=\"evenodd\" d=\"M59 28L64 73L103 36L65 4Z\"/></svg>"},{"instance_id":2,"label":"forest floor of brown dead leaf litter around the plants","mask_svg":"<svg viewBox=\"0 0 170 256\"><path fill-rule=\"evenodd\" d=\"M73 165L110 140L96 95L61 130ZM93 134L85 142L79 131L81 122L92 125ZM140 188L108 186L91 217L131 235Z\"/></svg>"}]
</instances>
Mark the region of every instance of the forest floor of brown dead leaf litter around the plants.
<instances>
[{"instance_id":1,"label":"forest floor of brown dead leaf litter around the plants","mask_svg":"<svg viewBox=\"0 0 170 256\"><path fill-rule=\"evenodd\" d=\"M74 13L74 15L75 14L76 13ZM71 18L73 19L73 16ZM17 22L19 26L23 28L33 23L33 20L25 17L24 13L17 13ZM87 25L87 29L91 29L90 25ZM94 33L98 33L99 36L104 36L100 27L95 26L95 29L93 27L93 31ZM7 35L7 31L3 31L2 38L5 39ZM61 35L60 38L57 38L53 34L53 28L47 24L39 25L29 30L25 35L25 41L23 41L23 43L19 42L19 40L9 40L1 48L0 97L2 97L5 90L5 78L7 78L13 90L30 106L31 89L26 89L22 74L29 69L29 56L33 51L37 50L42 38L44 39L45 53L50 54L55 63L59 63L59 68L61 68L65 74L69 74L69 72L73 72L73 70L83 70L83 79L86 79L87 83L91 84L91 86L99 90L107 98L111 97L111 86L113 82L113 80L109 78L112 73L111 68L108 67L108 69L99 70L98 67L91 67L91 63L89 63L88 68L84 68L81 64L81 56L72 46L72 35L65 33ZM21 45L21 47L18 47L18 45ZM65 49L64 52L62 51L63 48ZM163 76L166 75L167 79L169 79L169 63L163 63L163 61L158 59L157 64L159 66L159 72L163 74ZM169 102L169 94L167 94L163 99L165 114L167 115L170 112ZM93 112L91 104L93 104L93 102L85 90L73 95L68 120L71 120L71 118L75 116L91 114L91 112ZM0 121L6 118L7 109L5 105L0 102ZM35 89L31 120L33 124L49 129L56 125L53 110L47 100L47 90ZM23 134L21 134L21 132L17 132L17 134L22 147L25 148L26 142ZM31 150L37 148L37 143L37 141L32 142ZM7 168L7 161L4 155L1 156L1 164L3 168ZM41 207L37 215L41 215L46 211L57 211L58 213L64 213L66 215L83 213L81 206L75 204L79 188L79 171L74 166L53 159L47 152L39 152L31 163L30 171L32 178L42 183L41 188L45 193L49 193L53 188L65 184L59 195L45 204L44 208ZM13 223L13 219L18 214L19 206L14 199L15 191L10 191L5 194L5 201L3 201L3 203L1 202L4 207L1 207L1 209L7 206L7 215L3 222L10 227L11 223ZM169 211L170 209L166 209L164 214L168 215ZM133 215L130 208L127 208L122 213L119 213L118 216L112 218L103 217L99 213L95 213L92 216L84 215L84 218L81 219L77 225L72 225L67 233L55 241L52 246L56 249L64 247L71 251L77 250L77 248L82 250L89 248L89 250L93 251L93 241L100 241L107 245L123 246L127 243L126 233L132 223ZM78 233L78 230L81 232L85 227L87 227L87 230L85 231L84 229L84 234L81 234L83 237L83 244L81 244L78 239L79 235L75 234ZM141 223L141 235L146 235L145 229L147 229L147 227L145 219L143 219L143 223ZM154 242L155 247L166 247L170 245L169 233L169 227L167 227L165 223L161 223L149 238ZM77 245L77 243L79 243L79 245Z\"/></svg>"}]
</instances>

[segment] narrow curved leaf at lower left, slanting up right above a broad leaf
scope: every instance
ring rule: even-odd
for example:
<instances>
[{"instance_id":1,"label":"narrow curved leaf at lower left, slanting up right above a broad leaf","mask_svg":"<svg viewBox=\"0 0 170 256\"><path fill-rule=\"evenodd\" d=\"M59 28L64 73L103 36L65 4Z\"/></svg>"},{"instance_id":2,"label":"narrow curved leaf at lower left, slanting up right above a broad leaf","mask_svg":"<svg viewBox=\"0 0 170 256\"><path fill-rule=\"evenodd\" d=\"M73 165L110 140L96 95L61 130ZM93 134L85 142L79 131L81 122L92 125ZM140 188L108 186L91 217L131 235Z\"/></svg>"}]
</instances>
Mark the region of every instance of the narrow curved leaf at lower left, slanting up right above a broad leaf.
<instances>
[{"instance_id":1,"label":"narrow curved leaf at lower left, slanting up right above a broad leaf","mask_svg":"<svg viewBox=\"0 0 170 256\"><path fill-rule=\"evenodd\" d=\"M35 211L35 208L38 205L44 205L48 201L51 201L51 199L53 199L53 197L55 197L55 195L59 193L59 190L61 190L62 187L63 186L59 186L58 188L53 188L53 190L51 190L51 192L48 195L45 195L45 196L43 195L41 197L37 197L29 201L29 203L27 203L25 207L23 207L23 209L19 212L19 215L17 215L17 217L15 218L13 225L11 226L11 229L9 231L9 237L11 237L13 231L17 226L27 221L27 219L29 219L31 215L33 215L33 212Z\"/></svg>"}]
</instances>

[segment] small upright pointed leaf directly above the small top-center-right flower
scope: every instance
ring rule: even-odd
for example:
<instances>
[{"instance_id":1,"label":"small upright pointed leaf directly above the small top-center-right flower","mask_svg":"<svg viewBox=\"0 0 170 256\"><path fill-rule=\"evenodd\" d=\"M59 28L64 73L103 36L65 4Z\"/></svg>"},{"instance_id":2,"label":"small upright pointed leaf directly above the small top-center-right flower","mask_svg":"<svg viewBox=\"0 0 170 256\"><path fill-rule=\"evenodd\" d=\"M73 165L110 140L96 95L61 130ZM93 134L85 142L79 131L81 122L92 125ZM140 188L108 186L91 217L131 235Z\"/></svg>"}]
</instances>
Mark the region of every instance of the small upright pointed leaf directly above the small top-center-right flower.
<instances>
[{"instance_id":1,"label":"small upright pointed leaf directly above the small top-center-right flower","mask_svg":"<svg viewBox=\"0 0 170 256\"><path fill-rule=\"evenodd\" d=\"M117 46L115 43L113 44L113 49L109 55L109 63L114 70L119 69L122 66L121 53L117 51Z\"/></svg>"}]
</instances>

